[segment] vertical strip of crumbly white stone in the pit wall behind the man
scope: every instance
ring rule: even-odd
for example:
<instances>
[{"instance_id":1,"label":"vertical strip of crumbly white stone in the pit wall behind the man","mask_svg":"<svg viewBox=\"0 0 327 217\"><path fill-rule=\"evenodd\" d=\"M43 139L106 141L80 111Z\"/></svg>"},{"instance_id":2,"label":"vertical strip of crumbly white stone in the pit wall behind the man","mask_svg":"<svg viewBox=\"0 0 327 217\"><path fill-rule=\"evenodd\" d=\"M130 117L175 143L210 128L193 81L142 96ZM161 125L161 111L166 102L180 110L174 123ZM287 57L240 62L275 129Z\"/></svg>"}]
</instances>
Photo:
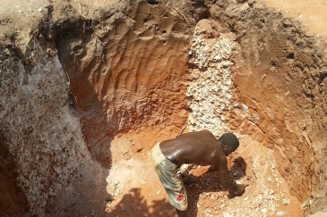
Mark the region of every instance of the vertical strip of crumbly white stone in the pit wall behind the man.
<instances>
[{"instance_id":1,"label":"vertical strip of crumbly white stone in the pit wall behind the man","mask_svg":"<svg viewBox=\"0 0 327 217\"><path fill-rule=\"evenodd\" d=\"M186 96L190 131L209 129L214 135L228 131L228 110L232 97L229 60L235 42L228 38L204 38L201 28L195 28L189 52L191 82Z\"/></svg>"}]
</instances>

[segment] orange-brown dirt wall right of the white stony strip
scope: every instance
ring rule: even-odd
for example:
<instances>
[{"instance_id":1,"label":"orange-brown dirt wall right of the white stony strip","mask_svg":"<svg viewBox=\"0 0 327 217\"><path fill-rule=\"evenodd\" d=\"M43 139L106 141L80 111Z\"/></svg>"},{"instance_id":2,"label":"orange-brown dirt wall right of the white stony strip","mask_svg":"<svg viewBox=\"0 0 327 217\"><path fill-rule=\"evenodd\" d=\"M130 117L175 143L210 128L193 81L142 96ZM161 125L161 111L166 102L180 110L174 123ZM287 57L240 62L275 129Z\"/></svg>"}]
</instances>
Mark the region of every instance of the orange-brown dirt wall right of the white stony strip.
<instances>
[{"instance_id":1,"label":"orange-brown dirt wall right of the white stony strip","mask_svg":"<svg viewBox=\"0 0 327 217\"><path fill-rule=\"evenodd\" d=\"M325 41L261 4L219 7L226 8L219 19L237 30L241 48L235 53L237 100L255 114L243 111L235 129L275 150L292 194L312 204L324 191L316 182L324 179L323 167L313 165L324 161Z\"/></svg>"}]
</instances>

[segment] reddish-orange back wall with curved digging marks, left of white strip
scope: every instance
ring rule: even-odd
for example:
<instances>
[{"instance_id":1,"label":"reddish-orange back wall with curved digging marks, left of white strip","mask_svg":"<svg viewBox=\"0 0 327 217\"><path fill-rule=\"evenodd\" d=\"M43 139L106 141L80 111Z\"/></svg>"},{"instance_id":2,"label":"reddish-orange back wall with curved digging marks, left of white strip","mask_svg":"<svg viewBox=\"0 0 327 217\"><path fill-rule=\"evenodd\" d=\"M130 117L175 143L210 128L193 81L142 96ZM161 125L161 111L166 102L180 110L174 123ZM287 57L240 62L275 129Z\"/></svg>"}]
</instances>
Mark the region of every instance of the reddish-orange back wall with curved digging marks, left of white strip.
<instances>
[{"instance_id":1,"label":"reddish-orange back wall with curved digging marks, left of white strip","mask_svg":"<svg viewBox=\"0 0 327 217\"><path fill-rule=\"evenodd\" d=\"M125 5L125 13L58 38L90 152L110 166L110 138L151 126L185 129L187 44L190 29L168 5ZM73 37L72 37L73 36Z\"/></svg>"}]
</instances>

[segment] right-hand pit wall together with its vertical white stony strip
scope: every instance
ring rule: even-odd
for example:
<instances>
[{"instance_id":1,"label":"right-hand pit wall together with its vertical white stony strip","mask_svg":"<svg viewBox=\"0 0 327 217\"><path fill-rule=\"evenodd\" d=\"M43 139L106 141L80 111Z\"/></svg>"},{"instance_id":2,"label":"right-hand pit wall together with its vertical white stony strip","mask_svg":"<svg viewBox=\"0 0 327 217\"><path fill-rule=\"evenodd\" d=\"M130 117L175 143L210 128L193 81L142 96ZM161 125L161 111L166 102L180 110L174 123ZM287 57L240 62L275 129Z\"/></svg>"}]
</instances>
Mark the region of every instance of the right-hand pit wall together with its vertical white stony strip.
<instances>
[{"instance_id":1,"label":"right-hand pit wall together with its vertical white stony strip","mask_svg":"<svg viewBox=\"0 0 327 217\"><path fill-rule=\"evenodd\" d=\"M318 121L325 117L324 40L313 38L297 20L263 4L218 1L210 11L212 20L202 31L207 41L196 41L195 30L194 53L190 53L194 54L191 64L196 63L190 71L195 85L190 87L196 86L194 90L200 93L189 95L195 113L195 118L192 114L189 118L190 129L198 121L195 129L234 130L270 147L292 194L312 204L312 197L323 188L315 180L324 179L322 169L313 166L318 159L324 161L321 148L326 125ZM215 47L224 51L225 46L210 43L211 38L235 41L229 48L231 58L219 60L224 55L218 55ZM210 83L221 69L222 75L213 81L219 86L215 91ZM229 82L228 75L233 78Z\"/></svg>"}]
</instances>

